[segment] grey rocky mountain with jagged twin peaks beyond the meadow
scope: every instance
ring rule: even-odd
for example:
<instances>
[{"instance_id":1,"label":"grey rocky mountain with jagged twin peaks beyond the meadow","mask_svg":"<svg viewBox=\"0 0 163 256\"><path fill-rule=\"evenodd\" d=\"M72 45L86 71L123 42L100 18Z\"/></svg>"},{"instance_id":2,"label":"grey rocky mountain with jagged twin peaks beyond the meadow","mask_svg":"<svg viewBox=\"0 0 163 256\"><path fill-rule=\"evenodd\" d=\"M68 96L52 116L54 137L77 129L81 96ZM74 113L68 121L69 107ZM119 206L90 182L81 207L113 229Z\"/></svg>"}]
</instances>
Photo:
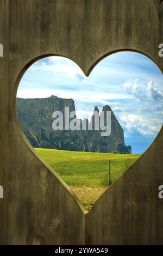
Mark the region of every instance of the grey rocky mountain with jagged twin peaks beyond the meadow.
<instances>
[{"instance_id":1,"label":"grey rocky mountain with jagged twin peaks beyond the meadow","mask_svg":"<svg viewBox=\"0 0 163 256\"><path fill-rule=\"evenodd\" d=\"M69 107L70 112L76 111L72 99L61 99L57 96L43 99L17 98L18 119L23 132L34 148L131 153L131 147L124 145L123 129L108 105L103 107L104 112L111 111L111 134L106 137L101 136L101 130L54 131L52 114L54 111L61 111L64 116L65 107ZM99 113L97 107L94 111ZM80 119L78 121L82 122ZM91 121L94 127L95 118L92 117ZM86 120L86 123L88 125L89 121Z\"/></svg>"}]
</instances>

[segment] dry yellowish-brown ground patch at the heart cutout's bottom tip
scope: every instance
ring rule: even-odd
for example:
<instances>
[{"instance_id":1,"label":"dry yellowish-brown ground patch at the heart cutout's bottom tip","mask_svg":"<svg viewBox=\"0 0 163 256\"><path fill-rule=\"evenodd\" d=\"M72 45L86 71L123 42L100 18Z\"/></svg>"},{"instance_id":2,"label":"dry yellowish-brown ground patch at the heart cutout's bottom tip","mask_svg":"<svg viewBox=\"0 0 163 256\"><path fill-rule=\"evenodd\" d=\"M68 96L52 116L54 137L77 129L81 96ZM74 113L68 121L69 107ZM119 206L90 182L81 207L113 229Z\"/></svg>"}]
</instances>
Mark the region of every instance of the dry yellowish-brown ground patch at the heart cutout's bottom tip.
<instances>
[{"instance_id":1,"label":"dry yellowish-brown ground patch at the heart cutout's bottom tip","mask_svg":"<svg viewBox=\"0 0 163 256\"><path fill-rule=\"evenodd\" d=\"M70 188L76 194L84 208L88 211L91 209L96 200L106 190L106 187L70 186Z\"/></svg>"}]
</instances>

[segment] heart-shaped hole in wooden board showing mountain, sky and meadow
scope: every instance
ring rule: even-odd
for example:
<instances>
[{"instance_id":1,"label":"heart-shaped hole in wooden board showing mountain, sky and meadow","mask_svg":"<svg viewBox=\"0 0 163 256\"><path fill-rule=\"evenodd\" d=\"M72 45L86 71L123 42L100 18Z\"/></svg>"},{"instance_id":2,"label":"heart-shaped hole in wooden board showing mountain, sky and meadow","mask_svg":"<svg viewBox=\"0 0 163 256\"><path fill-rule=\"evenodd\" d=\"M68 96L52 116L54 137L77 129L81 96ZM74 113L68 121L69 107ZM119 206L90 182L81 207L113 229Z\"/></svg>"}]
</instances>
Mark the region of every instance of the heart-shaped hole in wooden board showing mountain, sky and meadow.
<instances>
[{"instance_id":1,"label":"heart-shaped hole in wooden board showing mountain, sky and meadow","mask_svg":"<svg viewBox=\"0 0 163 256\"><path fill-rule=\"evenodd\" d=\"M112 54L96 65L89 77L67 58L47 57L31 65L22 77L17 91L18 118L37 153L90 210L158 133L162 85L158 66L140 53ZM102 115L91 119L93 109L97 114L104 112L108 131L110 120L109 135L95 130L95 121L101 123ZM56 111L62 113L63 125L61 119L54 122L59 118ZM82 130L82 126L80 131L73 130L78 119L70 117L72 111L78 119L93 120L92 130ZM106 113L111 114L108 123ZM65 124L67 116L72 126L65 131L70 128Z\"/></svg>"}]
</instances>

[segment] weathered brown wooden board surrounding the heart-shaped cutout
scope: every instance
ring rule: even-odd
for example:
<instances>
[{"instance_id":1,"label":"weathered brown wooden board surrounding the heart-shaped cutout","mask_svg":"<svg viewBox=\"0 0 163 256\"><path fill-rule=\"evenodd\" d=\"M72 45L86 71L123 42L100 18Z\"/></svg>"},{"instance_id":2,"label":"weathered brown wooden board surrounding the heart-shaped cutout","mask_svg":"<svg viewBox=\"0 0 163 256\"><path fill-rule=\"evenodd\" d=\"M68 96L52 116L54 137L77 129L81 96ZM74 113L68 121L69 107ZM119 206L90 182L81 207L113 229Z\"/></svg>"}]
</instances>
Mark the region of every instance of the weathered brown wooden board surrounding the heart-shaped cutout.
<instances>
[{"instance_id":1,"label":"weathered brown wooden board surrounding the heart-shaped cutout","mask_svg":"<svg viewBox=\"0 0 163 256\"><path fill-rule=\"evenodd\" d=\"M86 75L112 52L146 54L163 71L163 4L151 0L0 0L0 243L163 243L162 137L85 215L69 188L34 153L16 114L18 82L28 66L57 54Z\"/></svg>"}]
</instances>

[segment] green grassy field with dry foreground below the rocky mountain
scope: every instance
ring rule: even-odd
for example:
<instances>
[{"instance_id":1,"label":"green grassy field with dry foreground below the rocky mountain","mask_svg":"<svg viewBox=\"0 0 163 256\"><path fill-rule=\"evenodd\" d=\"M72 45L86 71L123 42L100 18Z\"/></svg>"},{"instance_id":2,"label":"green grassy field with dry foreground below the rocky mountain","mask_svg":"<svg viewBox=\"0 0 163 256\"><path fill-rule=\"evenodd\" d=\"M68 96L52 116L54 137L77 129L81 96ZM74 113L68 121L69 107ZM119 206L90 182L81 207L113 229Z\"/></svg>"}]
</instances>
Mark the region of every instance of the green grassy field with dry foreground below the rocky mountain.
<instances>
[{"instance_id":1,"label":"green grassy field with dry foreground below the rocky mountain","mask_svg":"<svg viewBox=\"0 0 163 256\"><path fill-rule=\"evenodd\" d=\"M108 187L109 160L112 183L140 156L40 148L35 150L71 187L86 210Z\"/></svg>"}]
</instances>

